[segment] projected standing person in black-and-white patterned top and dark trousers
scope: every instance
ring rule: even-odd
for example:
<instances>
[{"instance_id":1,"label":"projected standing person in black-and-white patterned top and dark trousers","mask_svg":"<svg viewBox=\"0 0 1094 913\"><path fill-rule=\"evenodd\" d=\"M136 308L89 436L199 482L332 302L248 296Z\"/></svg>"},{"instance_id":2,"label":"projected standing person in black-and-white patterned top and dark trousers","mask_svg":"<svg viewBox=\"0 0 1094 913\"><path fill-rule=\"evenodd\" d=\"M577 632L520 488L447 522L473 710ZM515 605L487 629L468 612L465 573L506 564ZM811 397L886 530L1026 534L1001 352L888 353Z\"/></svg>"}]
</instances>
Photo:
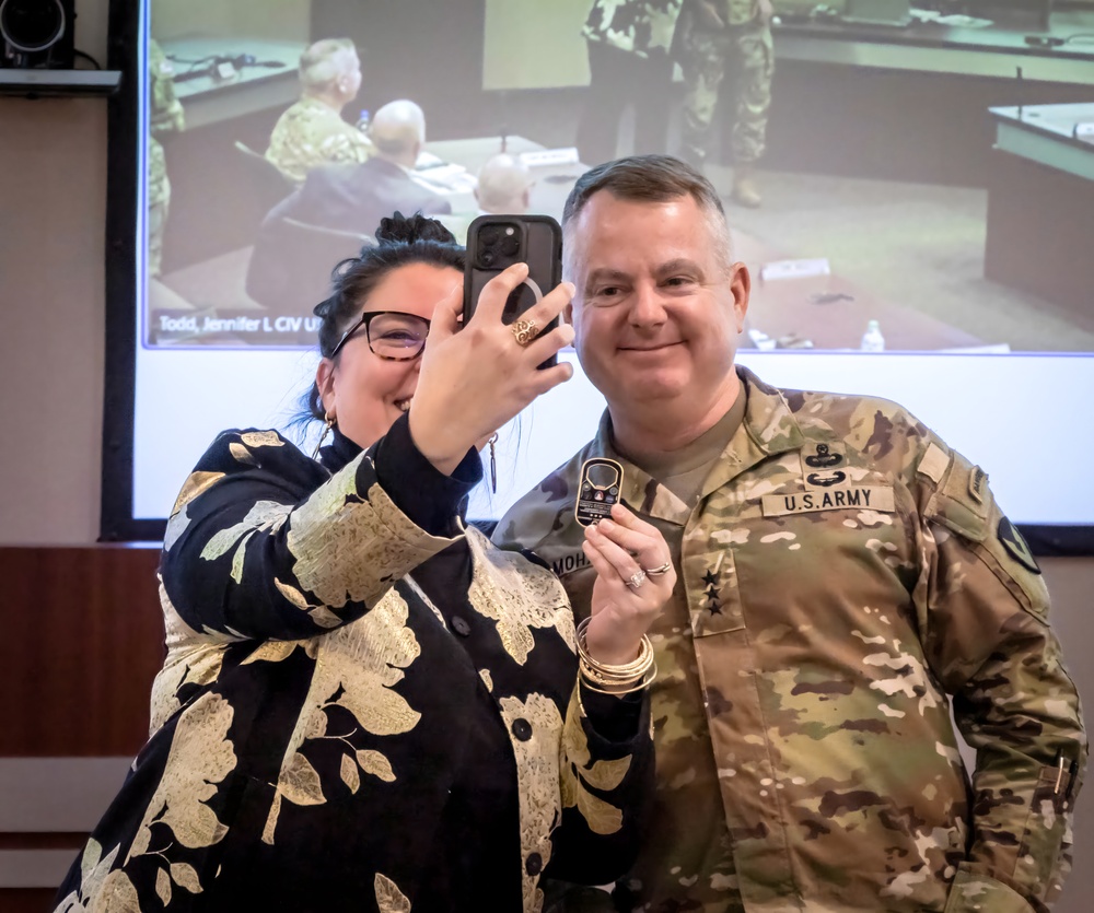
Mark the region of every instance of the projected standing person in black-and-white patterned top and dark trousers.
<instances>
[{"instance_id":1,"label":"projected standing person in black-and-white patterned top and dark trousers","mask_svg":"<svg viewBox=\"0 0 1094 913\"><path fill-rule=\"evenodd\" d=\"M578 122L581 161L615 159L619 118L635 107L635 151L664 152L680 0L594 0L581 34L589 92Z\"/></svg>"}]
</instances>

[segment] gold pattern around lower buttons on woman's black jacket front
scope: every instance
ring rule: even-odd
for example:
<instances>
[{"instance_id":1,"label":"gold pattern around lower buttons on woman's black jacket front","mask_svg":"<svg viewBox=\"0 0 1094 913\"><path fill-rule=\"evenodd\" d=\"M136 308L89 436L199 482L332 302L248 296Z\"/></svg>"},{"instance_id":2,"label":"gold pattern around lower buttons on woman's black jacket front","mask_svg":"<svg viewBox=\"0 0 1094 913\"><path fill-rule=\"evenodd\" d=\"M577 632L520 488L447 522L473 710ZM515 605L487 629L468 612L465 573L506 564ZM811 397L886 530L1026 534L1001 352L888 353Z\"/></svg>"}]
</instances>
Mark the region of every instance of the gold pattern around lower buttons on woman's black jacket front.
<instances>
[{"instance_id":1,"label":"gold pattern around lower buttons on woman's black jacket front","mask_svg":"<svg viewBox=\"0 0 1094 913\"><path fill-rule=\"evenodd\" d=\"M470 532L470 530L468 530ZM555 702L544 695L532 693L526 701L519 698L502 698L501 707L505 729L510 734L513 753L516 756L516 783L521 806L521 859L538 853L546 868L550 861L550 832L558 823L562 808L559 804L559 733L562 717ZM531 727L526 739L513 735L513 724ZM538 913L544 894L538 887L538 875L528 875L521 866L525 913Z\"/></svg>"}]
</instances>

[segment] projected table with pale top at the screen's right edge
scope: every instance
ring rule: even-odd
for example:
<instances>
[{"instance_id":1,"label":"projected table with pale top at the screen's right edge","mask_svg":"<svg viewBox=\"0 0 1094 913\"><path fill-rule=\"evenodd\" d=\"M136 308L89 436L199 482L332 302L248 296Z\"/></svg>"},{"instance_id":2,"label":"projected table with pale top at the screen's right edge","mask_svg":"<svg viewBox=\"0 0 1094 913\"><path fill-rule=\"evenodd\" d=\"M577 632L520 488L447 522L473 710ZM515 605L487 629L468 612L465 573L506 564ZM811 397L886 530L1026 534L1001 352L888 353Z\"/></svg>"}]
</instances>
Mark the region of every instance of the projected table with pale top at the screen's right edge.
<instances>
[{"instance_id":1,"label":"projected table with pale top at the screen's right edge","mask_svg":"<svg viewBox=\"0 0 1094 913\"><path fill-rule=\"evenodd\" d=\"M984 273L1094 326L1094 104L991 115Z\"/></svg>"}]
</instances>

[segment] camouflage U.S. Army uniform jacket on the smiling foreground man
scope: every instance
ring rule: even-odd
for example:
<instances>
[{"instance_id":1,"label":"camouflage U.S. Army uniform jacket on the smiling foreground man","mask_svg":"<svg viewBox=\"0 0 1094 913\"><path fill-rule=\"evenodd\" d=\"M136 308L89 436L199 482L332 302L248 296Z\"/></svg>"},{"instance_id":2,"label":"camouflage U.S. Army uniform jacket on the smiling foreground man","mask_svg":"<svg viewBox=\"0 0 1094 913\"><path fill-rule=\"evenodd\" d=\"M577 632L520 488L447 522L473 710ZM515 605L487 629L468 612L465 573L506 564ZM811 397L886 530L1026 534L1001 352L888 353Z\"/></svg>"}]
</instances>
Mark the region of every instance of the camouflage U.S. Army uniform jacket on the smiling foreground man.
<instances>
[{"instance_id":1,"label":"camouflage U.S. Army uniform jacket on the smiling foreground man","mask_svg":"<svg viewBox=\"0 0 1094 913\"><path fill-rule=\"evenodd\" d=\"M738 374L744 419L697 505L622 460L624 500L676 530L659 795L709 779L676 817L701 822L717 793L732 841L725 859L679 859L654 820L661 871L625 909L1046 910L1086 737L1036 562L985 473L898 406ZM550 563L579 613L593 572L572 492L593 456L619 458L607 417L494 534ZM666 705L656 689L683 694L693 674L691 704Z\"/></svg>"}]
</instances>

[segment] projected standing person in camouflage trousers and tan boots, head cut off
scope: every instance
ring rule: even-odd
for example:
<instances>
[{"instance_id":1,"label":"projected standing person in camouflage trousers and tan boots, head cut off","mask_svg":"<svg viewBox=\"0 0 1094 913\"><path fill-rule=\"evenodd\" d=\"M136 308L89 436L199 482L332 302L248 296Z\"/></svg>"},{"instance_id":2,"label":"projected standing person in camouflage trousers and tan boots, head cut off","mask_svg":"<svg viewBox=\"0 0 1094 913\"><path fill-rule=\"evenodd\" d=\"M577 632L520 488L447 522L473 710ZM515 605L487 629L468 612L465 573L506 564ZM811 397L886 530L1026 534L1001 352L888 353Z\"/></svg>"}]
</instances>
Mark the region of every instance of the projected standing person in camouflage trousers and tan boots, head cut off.
<instances>
[{"instance_id":1,"label":"projected standing person in camouflage trousers and tan boots, head cut off","mask_svg":"<svg viewBox=\"0 0 1094 913\"><path fill-rule=\"evenodd\" d=\"M771 0L685 0L673 39L685 84L680 154L696 167L706 159L719 90L732 68L732 197L749 208L761 202L756 162L771 109L772 14Z\"/></svg>"}]
</instances>

